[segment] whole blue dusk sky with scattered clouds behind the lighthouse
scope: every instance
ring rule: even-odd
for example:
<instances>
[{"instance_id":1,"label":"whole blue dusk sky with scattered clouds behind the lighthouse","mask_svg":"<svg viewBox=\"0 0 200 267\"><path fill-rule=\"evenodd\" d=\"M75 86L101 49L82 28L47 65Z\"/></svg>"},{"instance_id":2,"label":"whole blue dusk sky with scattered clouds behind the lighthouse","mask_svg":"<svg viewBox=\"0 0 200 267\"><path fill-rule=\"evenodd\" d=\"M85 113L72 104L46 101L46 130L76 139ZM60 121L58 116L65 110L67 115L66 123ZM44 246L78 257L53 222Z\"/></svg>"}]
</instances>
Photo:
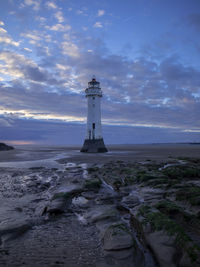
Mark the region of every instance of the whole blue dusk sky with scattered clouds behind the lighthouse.
<instances>
[{"instance_id":1,"label":"whole blue dusk sky with scattered clouds behind the lighthouse","mask_svg":"<svg viewBox=\"0 0 200 267\"><path fill-rule=\"evenodd\" d=\"M0 0L0 142L200 142L199 0Z\"/></svg>"}]
</instances>

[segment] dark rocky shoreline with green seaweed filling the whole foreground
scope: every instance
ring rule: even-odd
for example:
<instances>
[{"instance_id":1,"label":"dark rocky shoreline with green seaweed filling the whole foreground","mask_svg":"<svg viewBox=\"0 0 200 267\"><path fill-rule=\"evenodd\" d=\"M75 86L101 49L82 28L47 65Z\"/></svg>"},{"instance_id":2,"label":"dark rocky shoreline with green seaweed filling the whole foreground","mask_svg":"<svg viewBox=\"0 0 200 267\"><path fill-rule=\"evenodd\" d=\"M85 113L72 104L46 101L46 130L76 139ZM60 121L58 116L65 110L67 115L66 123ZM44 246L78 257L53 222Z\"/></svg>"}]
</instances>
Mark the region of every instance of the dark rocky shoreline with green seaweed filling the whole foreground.
<instances>
[{"instance_id":1,"label":"dark rocky shoreline with green seaweed filling the whole foreground","mask_svg":"<svg viewBox=\"0 0 200 267\"><path fill-rule=\"evenodd\" d=\"M1 266L199 266L199 159L58 162L1 168Z\"/></svg>"}]
</instances>

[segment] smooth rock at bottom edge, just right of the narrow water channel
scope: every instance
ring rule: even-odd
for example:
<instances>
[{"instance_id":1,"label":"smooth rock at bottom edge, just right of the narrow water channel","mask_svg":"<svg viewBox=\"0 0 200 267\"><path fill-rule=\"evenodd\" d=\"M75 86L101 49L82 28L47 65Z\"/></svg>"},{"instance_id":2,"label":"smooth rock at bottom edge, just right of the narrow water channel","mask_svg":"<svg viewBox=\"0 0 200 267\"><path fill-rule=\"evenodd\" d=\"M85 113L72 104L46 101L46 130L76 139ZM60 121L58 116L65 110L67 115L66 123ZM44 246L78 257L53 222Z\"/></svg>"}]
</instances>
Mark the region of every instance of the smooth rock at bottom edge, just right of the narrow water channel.
<instances>
[{"instance_id":1,"label":"smooth rock at bottom edge, just right of the narrow water channel","mask_svg":"<svg viewBox=\"0 0 200 267\"><path fill-rule=\"evenodd\" d=\"M176 267L173 259L176 254L174 239L163 231L147 234L145 236L147 244L153 251L159 266L161 267Z\"/></svg>"}]
</instances>

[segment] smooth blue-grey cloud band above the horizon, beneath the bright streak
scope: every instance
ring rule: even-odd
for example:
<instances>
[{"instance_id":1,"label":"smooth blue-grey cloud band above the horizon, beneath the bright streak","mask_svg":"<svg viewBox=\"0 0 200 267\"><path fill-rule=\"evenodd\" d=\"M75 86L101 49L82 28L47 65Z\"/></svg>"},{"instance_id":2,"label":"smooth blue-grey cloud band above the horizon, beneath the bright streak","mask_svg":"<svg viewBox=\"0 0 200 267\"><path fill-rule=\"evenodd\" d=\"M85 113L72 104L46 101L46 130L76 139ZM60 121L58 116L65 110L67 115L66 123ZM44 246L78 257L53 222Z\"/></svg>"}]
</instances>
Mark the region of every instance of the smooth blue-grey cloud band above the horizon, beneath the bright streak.
<instances>
[{"instance_id":1,"label":"smooth blue-grey cloud band above the horizon, beneath the bright streak","mask_svg":"<svg viewBox=\"0 0 200 267\"><path fill-rule=\"evenodd\" d=\"M15 129L13 131L13 129ZM86 126L78 123L57 123L53 121L36 121L13 119L12 127L1 126L0 139L6 143L16 144L55 144L83 145ZM106 144L144 144L159 142L189 142L199 140L199 133L180 132L178 130L127 126L103 125ZM11 142L10 142L11 141Z\"/></svg>"}]
</instances>

